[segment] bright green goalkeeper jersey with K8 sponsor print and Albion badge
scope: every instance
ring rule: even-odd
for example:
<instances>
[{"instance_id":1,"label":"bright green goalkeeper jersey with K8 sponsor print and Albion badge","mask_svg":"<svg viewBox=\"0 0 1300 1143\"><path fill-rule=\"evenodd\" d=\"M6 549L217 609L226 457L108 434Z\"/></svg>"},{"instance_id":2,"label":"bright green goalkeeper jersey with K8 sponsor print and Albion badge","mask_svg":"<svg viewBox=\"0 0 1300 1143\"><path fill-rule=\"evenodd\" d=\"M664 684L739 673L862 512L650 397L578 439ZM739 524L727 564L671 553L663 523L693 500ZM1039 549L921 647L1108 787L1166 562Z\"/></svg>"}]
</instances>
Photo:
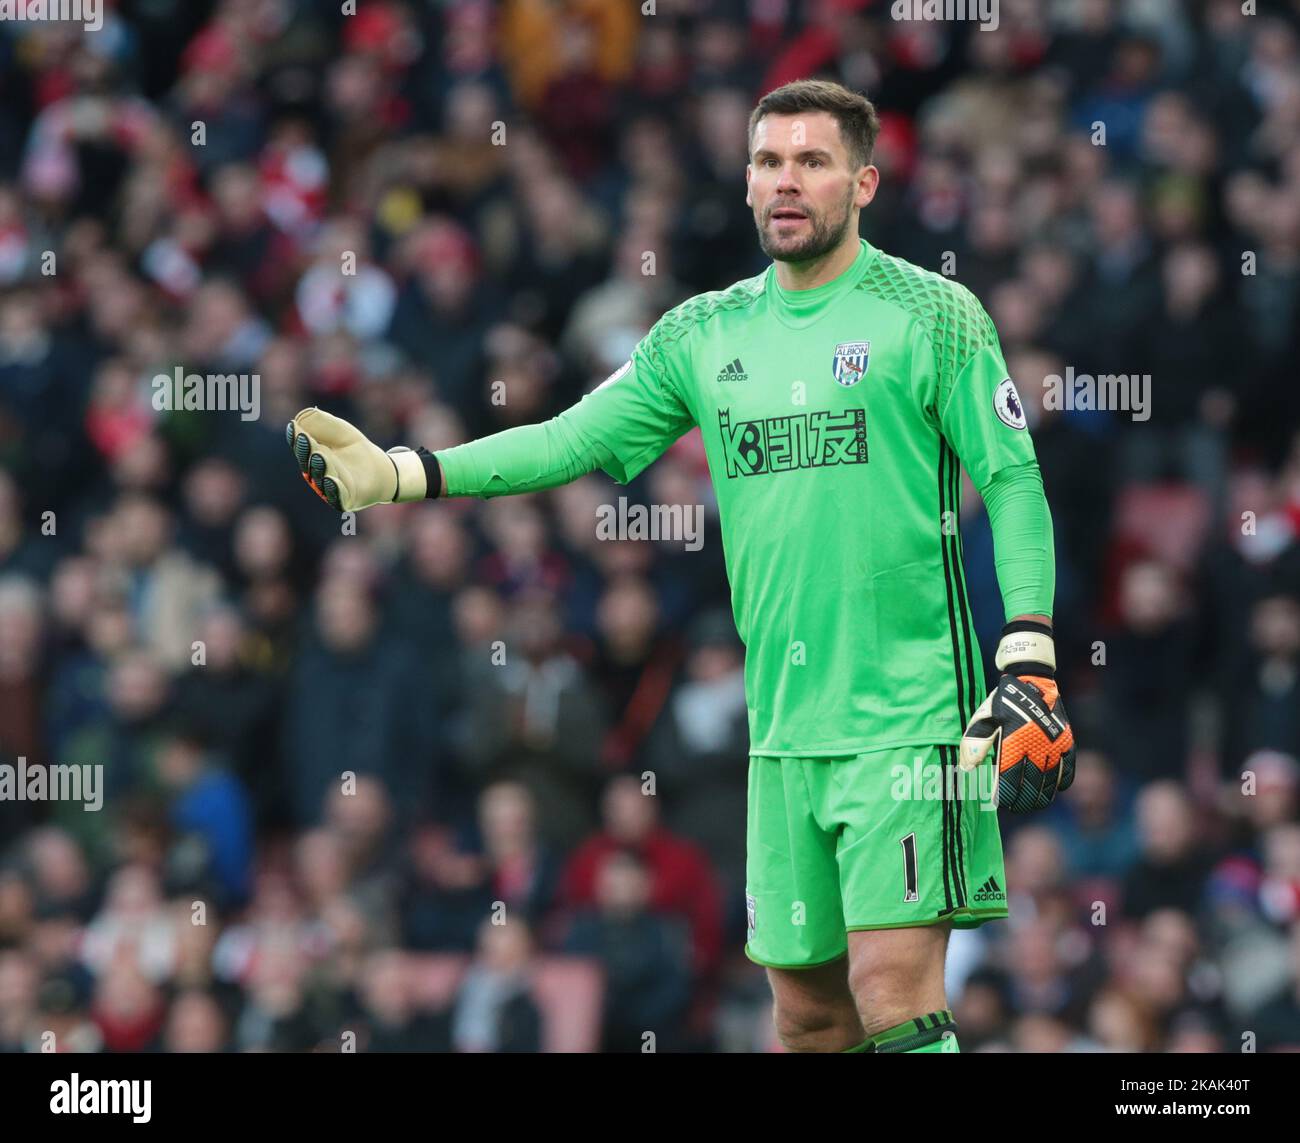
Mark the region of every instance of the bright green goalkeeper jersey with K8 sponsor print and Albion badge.
<instances>
[{"instance_id":1,"label":"bright green goalkeeper jersey with K8 sponsor print and Albion badge","mask_svg":"<svg viewBox=\"0 0 1300 1143\"><path fill-rule=\"evenodd\" d=\"M746 648L750 753L959 741L985 689L959 464L984 489L1035 462L974 295L864 241L811 290L783 289L770 267L671 309L554 420L437 456L451 495L597 467L627 482L694 425ZM1032 610L1050 612L1050 583L1035 592Z\"/></svg>"}]
</instances>

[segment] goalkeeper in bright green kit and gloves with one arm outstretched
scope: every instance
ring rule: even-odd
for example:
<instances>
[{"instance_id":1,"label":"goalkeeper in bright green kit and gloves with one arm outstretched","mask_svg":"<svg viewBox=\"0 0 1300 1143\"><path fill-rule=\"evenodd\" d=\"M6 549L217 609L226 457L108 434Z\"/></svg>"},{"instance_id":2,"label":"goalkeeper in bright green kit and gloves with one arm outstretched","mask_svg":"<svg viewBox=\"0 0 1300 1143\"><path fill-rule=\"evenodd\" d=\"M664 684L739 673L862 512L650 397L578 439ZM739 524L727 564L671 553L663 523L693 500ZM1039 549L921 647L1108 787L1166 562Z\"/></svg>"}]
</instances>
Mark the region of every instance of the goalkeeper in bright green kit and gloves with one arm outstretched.
<instances>
[{"instance_id":1,"label":"goalkeeper in bright green kit and gloves with one arm outstretched","mask_svg":"<svg viewBox=\"0 0 1300 1143\"><path fill-rule=\"evenodd\" d=\"M764 96L746 203L772 265L671 309L552 420L433 454L384 453L315 408L287 429L304 479L352 511L597 468L628 482L699 427L746 645L745 951L792 1051L956 1051L949 932L1006 917L985 810L1043 806L1074 774L1024 411L970 291L858 237L878 130L871 103L835 83ZM961 466L1008 620L987 697Z\"/></svg>"}]
</instances>

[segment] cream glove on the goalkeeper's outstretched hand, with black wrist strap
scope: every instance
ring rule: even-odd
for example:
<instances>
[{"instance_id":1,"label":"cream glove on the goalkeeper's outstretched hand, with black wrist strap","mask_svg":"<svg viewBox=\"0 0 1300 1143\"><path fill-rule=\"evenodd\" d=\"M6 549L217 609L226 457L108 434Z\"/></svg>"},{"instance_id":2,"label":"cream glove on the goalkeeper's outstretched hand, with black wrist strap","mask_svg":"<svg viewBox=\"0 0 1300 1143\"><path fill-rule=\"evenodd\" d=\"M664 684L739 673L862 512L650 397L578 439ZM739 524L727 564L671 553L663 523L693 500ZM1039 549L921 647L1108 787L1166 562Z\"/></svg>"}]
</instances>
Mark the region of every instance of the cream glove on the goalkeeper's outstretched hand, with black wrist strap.
<instances>
[{"instance_id":1,"label":"cream glove on the goalkeeper's outstretched hand, with black wrist strap","mask_svg":"<svg viewBox=\"0 0 1300 1143\"><path fill-rule=\"evenodd\" d=\"M429 488L425 464L437 464L425 449L399 445L385 453L355 425L320 408L298 414L285 440L303 480L339 512L422 501Z\"/></svg>"}]
</instances>

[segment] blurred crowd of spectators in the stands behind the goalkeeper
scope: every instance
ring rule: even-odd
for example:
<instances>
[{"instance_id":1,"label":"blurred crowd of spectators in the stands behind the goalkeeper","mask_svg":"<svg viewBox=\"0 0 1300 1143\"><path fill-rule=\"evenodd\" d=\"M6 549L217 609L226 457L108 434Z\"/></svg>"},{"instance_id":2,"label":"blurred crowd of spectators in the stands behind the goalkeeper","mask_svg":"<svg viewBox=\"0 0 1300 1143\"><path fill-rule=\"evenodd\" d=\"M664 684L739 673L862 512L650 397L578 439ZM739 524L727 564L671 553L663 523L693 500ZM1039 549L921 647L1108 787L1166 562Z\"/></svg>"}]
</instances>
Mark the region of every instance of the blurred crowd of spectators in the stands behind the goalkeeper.
<instances>
[{"instance_id":1,"label":"blurred crowd of spectators in the stands behind the goalkeeper","mask_svg":"<svg viewBox=\"0 0 1300 1143\"><path fill-rule=\"evenodd\" d=\"M341 527L283 432L566 408L763 270L746 120L809 75L878 103L863 234L988 308L1056 525L1083 752L953 938L962 1049L1300 1048L1300 4L341 8L0 22L0 762L107 788L0 801L0 1051L774 1049L698 433ZM1149 417L1039 393L1106 373ZM597 540L620 495L702 550ZM988 651L968 485L962 541Z\"/></svg>"}]
</instances>

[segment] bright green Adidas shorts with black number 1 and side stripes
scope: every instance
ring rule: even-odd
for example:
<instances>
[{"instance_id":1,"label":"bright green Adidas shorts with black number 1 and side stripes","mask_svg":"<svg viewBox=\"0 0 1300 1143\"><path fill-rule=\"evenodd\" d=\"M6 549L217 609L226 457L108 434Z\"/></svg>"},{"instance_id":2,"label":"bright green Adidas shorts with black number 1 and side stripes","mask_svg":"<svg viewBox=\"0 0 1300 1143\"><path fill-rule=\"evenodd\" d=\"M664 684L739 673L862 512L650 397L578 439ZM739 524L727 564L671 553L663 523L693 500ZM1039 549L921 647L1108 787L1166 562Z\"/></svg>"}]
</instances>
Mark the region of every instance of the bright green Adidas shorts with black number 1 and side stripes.
<instances>
[{"instance_id":1,"label":"bright green Adidas shorts with black number 1 and side stripes","mask_svg":"<svg viewBox=\"0 0 1300 1143\"><path fill-rule=\"evenodd\" d=\"M992 765L956 746L749 759L745 953L774 969L848 952L845 934L1006 917Z\"/></svg>"}]
</instances>

